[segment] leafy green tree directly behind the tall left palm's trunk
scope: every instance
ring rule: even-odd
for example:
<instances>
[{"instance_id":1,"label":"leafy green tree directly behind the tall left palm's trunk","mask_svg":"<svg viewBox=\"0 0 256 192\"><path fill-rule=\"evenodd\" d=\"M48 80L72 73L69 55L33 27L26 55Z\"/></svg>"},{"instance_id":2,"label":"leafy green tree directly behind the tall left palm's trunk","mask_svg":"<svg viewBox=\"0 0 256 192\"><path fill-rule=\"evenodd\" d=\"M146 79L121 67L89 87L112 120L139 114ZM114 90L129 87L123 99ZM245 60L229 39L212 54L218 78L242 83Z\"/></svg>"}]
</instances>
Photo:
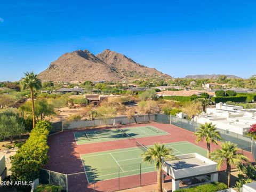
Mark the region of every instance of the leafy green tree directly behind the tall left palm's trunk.
<instances>
[{"instance_id":1,"label":"leafy green tree directly behind the tall left palm's trunk","mask_svg":"<svg viewBox=\"0 0 256 192\"><path fill-rule=\"evenodd\" d=\"M45 117L55 115L54 108L52 105L48 104L45 99L40 99L35 101L35 118L37 121L44 120ZM29 117L32 116L32 103L27 101L20 106L20 110L25 111Z\"/></svg>"}]
</instances>

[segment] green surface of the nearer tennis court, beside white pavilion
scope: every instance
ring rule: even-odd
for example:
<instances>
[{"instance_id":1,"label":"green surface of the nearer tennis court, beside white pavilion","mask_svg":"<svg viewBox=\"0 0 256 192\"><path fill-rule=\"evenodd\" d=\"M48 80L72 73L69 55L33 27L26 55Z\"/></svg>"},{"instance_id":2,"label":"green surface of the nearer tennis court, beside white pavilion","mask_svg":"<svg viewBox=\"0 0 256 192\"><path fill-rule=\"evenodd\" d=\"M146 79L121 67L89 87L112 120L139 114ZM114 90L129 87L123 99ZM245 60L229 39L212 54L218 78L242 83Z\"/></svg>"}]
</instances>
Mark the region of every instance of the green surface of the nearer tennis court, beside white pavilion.
<instances>
[{"instance_id":1,"label":"green surface of the nearer tennis court, beside white pavilion","mask_svg":"<svg viewBox=\"0 0 256 192\"><path fill-rule=\"evenodd\" d=\"M205 149L187 141L166 143L166 146L173 149L174 155L198 153L206 156ZM142 162L141 153L139 147L134 147L81 155L88 182L155 171L153 164Z\"/></svg>"}]
</instances>

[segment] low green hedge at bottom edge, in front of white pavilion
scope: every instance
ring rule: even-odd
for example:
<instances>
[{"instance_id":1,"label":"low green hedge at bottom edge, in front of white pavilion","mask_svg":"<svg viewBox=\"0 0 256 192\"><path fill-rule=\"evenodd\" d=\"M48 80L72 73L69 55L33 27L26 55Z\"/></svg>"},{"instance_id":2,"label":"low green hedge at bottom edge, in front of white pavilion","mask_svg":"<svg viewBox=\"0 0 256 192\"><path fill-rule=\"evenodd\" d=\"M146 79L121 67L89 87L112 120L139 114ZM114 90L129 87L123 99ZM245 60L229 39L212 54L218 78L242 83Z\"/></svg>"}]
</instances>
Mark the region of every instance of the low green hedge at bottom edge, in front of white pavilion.
<instances>
[{"instance_id":1,"label":"low green hedge at bottom edge, in front of white pavilion","mask_svg":"<svg viewBox=\"0 0 256 192\"><path fill-rule=\"evenodd\" d=\"M199 186L183 188L175 190L176 192L215 192L223 189L227 189L227 185L221 182L206 183Z\"/></svg>"}]
</instances>

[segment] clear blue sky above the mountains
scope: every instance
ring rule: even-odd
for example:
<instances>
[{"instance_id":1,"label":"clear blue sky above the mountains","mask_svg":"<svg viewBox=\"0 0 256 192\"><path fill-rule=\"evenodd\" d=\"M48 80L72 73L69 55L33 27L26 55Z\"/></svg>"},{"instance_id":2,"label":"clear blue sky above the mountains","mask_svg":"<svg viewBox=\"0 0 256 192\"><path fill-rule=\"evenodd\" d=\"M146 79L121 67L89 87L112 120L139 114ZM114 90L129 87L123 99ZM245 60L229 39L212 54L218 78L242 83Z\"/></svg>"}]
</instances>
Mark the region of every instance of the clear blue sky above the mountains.
<instances>
[{"instance_id":1,"label":"clear blue sky above the mountains","mask_svg":"<svg viewBox=\"0 0 256 192\"><path fill-rule=\"evenodd\" d=\"M105 49L174 77L256 74L256 1L0 0L0 81Z\"/></svg>"}]
</instances>

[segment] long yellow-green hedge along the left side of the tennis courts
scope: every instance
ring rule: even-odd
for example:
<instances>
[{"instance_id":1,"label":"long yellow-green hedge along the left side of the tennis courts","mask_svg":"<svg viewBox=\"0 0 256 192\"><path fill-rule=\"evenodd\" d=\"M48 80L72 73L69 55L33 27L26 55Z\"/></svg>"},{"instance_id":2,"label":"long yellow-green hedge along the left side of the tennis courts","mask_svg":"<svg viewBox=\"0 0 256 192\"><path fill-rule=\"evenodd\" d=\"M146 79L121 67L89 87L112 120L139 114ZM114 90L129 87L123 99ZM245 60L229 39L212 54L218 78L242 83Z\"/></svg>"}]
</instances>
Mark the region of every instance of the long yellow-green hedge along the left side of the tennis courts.
<instances>
[{"instance_id":1,"label":"long yellow-green hedge along the left side of the tennis courts","mask_svg":"<svg viewBox=\"0 0 256 192\"><path fill-rule=\"evenodd\" d=\"M33 181L39 176L39 169L48 161L47 135L52 126L48 121L37 122L26 143L11 157L11 180Z\"/></svg>"}]
</instances>

